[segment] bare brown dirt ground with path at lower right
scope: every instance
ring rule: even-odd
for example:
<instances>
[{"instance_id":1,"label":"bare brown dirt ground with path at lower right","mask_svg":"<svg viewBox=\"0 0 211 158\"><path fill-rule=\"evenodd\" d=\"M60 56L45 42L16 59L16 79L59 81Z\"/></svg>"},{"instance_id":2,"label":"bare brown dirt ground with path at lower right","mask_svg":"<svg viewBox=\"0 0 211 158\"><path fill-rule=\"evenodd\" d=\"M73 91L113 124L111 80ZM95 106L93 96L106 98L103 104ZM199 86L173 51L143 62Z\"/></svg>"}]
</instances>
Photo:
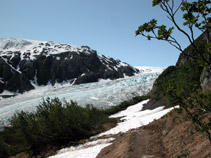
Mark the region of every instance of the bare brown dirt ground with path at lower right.
<instances>
[{"instance_id":1,"label":"bare brown dirt ground with path at lower right","mask_svg":"<svg viewBox=\"0 0 211 158\"><path fill-rule=\"evenodd\" d=\"M117 136L97 158L211 158L211 142L188 116L171 112Z\"/></svg>"}]
</instances>

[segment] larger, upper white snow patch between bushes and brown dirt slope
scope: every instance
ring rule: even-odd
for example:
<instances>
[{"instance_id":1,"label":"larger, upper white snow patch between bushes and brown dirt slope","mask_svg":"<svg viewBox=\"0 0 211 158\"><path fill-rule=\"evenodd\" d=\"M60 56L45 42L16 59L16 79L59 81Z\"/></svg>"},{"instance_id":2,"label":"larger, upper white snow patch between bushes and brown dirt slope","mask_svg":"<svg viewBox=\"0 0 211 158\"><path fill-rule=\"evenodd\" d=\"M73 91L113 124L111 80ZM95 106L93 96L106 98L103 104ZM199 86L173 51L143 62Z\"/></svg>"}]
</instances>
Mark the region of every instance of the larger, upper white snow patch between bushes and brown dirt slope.
<instances>
[{"instance_id":1,"label":"larger, upper white snow patch between bushes and brown dirt slope","mask_svg":"<svg viewBox=\"0 0 211 158\"><path fill-rule=\"evenodd\" d=\"M111 115L110 118L118 118L121 117L121 121L119 122L118 125L106 132L103 132L96 137L101 137L105 135L114 135L118 133L125 133L131 129L135 129L144 125L149 124L150 122L161 118L174 108L178 108L178 106L169 108L169 109L164 109L163 107L158 107L153 110L144 110L141 111L143 108L143 105L146 104L149 100L142 101L138 104L135 104L133 106L128 107L126 110L121 111L117 114Z\"/></svg>"}]
</instances>

